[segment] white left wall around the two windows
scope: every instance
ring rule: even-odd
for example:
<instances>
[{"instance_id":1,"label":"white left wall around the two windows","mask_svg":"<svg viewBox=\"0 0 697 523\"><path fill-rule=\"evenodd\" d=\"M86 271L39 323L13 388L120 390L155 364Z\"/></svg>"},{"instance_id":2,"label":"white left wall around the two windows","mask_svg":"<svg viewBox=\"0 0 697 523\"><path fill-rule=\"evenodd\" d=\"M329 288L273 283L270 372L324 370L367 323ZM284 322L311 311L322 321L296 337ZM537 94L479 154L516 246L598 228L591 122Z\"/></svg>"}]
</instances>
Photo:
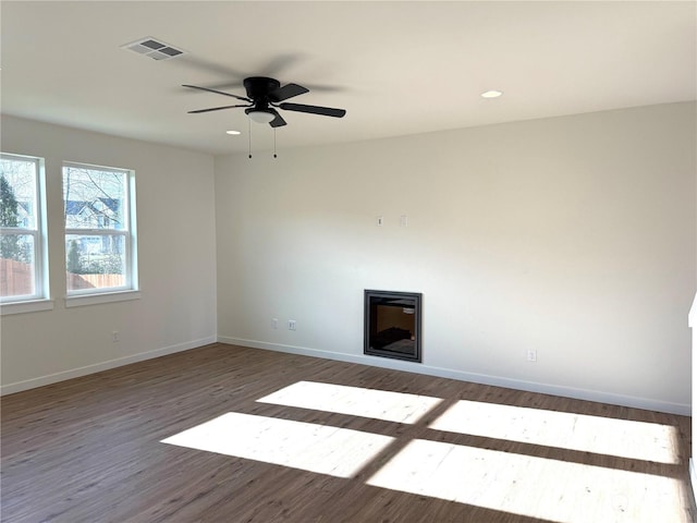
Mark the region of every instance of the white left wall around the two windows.
<instances>
[{"instance_id":1,"label":"white left wall around the two windows","mask_svg":"<svg viewBox=\"0 0 697 523\"><path fill-rule=\"evenodd\" d=\"M2 317L3 392L216 340L211 156L7 115L1 148L46 159L54 299L52 311ZM64 160L135 170L140 300L65 308Z\"/></svg>"}]
</instances>

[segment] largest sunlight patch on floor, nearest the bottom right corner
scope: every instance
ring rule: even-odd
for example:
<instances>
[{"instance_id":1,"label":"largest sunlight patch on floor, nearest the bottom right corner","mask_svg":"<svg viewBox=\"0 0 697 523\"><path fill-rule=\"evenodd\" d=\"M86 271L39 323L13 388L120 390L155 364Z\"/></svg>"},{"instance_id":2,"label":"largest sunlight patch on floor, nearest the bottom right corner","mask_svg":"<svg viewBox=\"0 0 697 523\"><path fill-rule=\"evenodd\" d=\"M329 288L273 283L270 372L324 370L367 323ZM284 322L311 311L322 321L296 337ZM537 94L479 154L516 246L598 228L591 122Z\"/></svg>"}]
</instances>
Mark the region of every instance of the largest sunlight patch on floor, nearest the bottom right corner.
<instances>
[{"instance_id":1,"label":"largest sunlight patch on floor, nearest the bottom right corner","mask_svg":"<svg viewBox=\"0 0 697 523\"><path fill-rule=\"evenodd\" d=\"M673 478L423 439L367 484L563 523L688 521Z\"/></svg>"}]
</instances>

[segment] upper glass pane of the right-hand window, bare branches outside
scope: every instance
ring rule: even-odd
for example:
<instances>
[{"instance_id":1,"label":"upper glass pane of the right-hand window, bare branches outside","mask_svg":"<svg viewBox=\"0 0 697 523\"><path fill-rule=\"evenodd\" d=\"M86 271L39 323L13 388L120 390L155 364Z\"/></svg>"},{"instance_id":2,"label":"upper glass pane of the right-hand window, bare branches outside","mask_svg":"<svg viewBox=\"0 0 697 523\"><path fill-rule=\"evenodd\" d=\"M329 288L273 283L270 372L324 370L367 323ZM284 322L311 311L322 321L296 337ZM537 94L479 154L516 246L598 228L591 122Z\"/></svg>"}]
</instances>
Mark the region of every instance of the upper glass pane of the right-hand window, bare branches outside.
<instances>
[{"instance_id":1,"label":"upper glass pane of the right-hand window, bare branches outside","mask_svg":"<svg viewBox=\"0 0 697 523\"><path fill-rule=\"evenodd\" d=\"M66 229L124 230L127 174L65 166L63 202Z\"/></svg>"}]
</instances>

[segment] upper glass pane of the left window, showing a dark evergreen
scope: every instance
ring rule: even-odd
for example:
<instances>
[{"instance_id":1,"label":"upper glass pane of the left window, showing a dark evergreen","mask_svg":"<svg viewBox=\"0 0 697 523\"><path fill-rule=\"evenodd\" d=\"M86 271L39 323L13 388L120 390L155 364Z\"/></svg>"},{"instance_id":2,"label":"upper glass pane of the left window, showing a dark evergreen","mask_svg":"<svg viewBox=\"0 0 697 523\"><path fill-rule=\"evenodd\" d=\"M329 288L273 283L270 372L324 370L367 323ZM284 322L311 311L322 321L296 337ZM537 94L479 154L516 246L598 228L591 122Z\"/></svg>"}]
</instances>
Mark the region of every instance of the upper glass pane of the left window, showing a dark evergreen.
<instances>
[{"instance_id":1,"label":"upper glass pane of the left window, showing a dark evergreen","mask_svg":"<svg viewBox=\"0 0 697 523\"><path fill-rule=\"evenodd\" d=\"M36 161L0 158L0 227L36 229Z\"/></svg>"}]
</instances>

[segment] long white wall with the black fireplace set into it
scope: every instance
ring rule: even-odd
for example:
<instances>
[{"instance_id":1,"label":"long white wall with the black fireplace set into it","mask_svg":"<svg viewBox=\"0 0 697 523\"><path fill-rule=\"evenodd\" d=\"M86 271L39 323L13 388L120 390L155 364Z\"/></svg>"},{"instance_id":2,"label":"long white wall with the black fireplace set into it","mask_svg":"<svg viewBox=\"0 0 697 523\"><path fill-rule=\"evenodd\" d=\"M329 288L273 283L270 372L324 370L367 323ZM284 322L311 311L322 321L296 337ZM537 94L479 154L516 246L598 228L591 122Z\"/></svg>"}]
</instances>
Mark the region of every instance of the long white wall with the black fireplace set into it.
<instances>
[{"instance_id":1,"label":"long white wall with the black fireplace set into it","mask_svg":"<svg viewBox=\"0 0 697 523\"><path fill-rule=\"evenodd\" d=\"M219 157L219 339L689 414L695 143L674 104ZM364 289L424 293L423 365L363 356Z\"/></svg>"}]
</instances>

